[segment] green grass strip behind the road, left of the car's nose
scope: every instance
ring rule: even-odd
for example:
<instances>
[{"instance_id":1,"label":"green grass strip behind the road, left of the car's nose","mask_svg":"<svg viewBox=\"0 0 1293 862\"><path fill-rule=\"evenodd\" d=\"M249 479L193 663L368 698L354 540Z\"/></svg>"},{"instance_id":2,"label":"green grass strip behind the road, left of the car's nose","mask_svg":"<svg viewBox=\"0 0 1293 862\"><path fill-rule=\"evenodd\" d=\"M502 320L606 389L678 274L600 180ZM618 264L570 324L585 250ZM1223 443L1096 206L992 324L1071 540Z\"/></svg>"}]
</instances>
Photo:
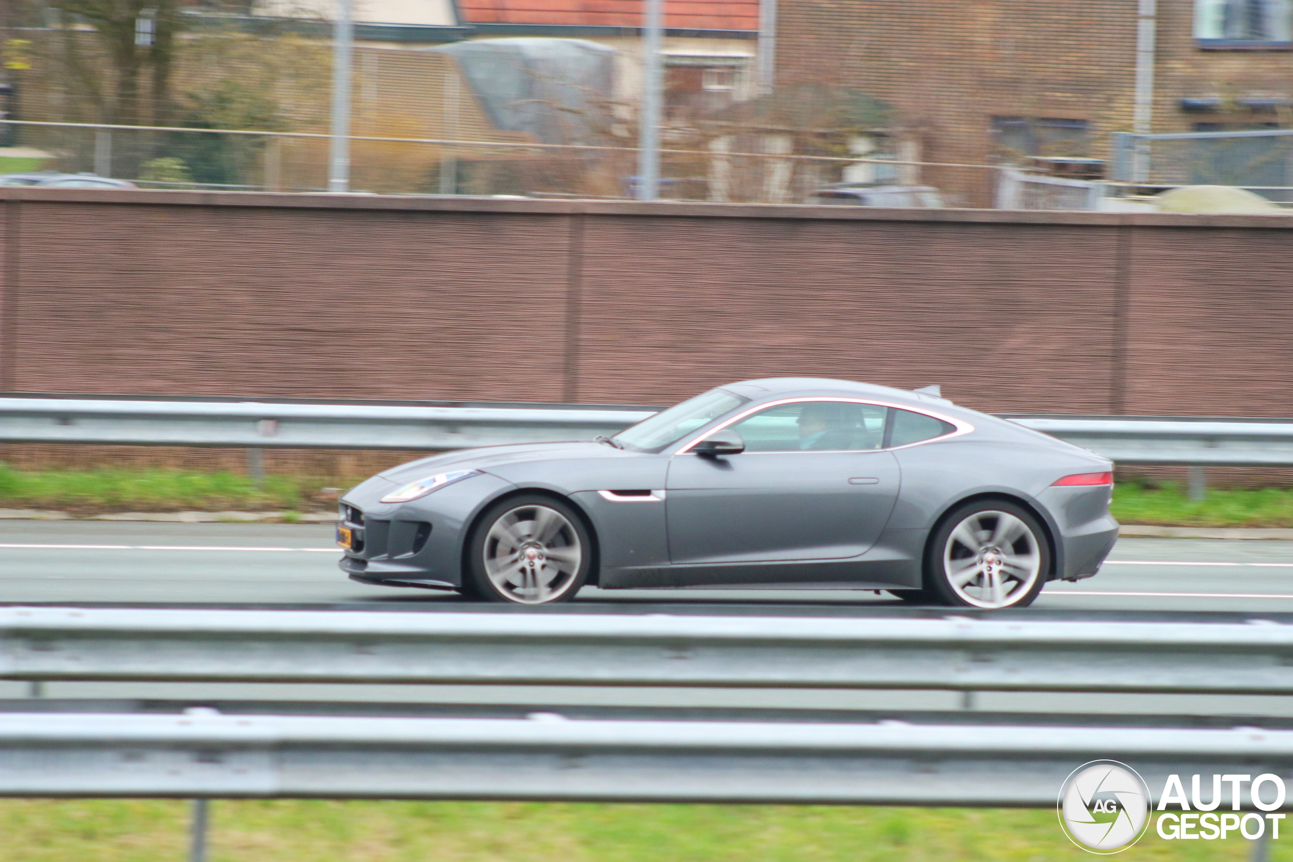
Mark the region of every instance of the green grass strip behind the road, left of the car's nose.
<instances>
[{"instance_id":1,"label":"green grass strip behind the road, left of the car's nose","mask_svg":"<svg viewBox=\"0 0 1293 862\"><path fill-rule=\"evenodd\" d=\"M325 481L266 476L260 485L235 473L185 470L16 470L0 464L0 508L71 512L176 512L331 508Z\"/></svg>"}]
</instances>

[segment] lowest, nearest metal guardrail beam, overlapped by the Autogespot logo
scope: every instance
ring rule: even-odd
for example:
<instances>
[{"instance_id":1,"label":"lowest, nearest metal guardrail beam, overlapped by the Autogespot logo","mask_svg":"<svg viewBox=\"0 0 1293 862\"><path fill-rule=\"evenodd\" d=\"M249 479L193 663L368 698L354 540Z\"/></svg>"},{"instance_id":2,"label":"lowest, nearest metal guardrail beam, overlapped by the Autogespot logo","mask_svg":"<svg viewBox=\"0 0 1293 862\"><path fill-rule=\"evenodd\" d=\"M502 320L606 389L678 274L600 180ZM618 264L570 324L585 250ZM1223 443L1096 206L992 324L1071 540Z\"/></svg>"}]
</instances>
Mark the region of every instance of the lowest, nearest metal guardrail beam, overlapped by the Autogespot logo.
<instances>
[{"instance_id":1,"label":"lowest, nearest metal guardrail beam, overlapped by the Autogespot logo","mask_svg":"<svg viewBox=\"0 0 1293 862\"><path fill-rule=\"evenodd\" d=\"M1054 806L1095 759L1288 774L1293 730L764 721L0 716L4 796L296 796ZM1228 791L1223 791L1228 792ZM1228 800L1228 796L1226 797ZM1241 797L1241 805L1249 800ZM1287 806L1293 799L1287 800ZM1226 806L1230 808L1228 805Z\"/></svg>"}]
</instances>

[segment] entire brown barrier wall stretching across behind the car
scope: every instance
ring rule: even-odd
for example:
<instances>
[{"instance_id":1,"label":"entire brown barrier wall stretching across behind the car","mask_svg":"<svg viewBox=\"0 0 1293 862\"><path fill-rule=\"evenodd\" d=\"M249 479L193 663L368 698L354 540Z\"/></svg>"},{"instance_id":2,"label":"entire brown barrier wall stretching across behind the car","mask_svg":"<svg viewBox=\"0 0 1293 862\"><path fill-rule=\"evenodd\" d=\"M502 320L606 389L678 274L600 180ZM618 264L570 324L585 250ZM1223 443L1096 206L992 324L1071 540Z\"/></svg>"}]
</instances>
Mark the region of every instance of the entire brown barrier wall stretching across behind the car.
<instances>
[{"instance_id":1,"label":"entire brown barrier wall stretching across behind the car","mask_svg":"<svg viewBox=\"0 0 1293 862\"><path fill-rule=\"evenodd\" d=\"M1293 415L1293 220L0 190L0 389ZM17 226L17 230L14 230Z\"/></svg>"}]
</instances>

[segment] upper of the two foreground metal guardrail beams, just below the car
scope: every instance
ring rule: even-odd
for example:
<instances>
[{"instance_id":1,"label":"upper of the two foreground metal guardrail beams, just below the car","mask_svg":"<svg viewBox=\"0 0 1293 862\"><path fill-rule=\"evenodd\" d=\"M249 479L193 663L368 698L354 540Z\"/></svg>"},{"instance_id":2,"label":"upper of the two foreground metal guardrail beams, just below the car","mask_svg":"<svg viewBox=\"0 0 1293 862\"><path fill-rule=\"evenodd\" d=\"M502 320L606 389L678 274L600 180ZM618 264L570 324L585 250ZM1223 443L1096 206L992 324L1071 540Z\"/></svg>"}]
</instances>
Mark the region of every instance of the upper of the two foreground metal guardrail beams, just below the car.
<instances>
[{"instance_id":1,"label":"upper of the two foreground metal guardrail beams, just below the car","mask_svg":"<svg viewBox=\"0 0 1293 862\"><path fill-rule=\"evenodd\" d=\"M1293 694L1293 625L0 609L0 678Z\"/></svg>"}]
</instances>

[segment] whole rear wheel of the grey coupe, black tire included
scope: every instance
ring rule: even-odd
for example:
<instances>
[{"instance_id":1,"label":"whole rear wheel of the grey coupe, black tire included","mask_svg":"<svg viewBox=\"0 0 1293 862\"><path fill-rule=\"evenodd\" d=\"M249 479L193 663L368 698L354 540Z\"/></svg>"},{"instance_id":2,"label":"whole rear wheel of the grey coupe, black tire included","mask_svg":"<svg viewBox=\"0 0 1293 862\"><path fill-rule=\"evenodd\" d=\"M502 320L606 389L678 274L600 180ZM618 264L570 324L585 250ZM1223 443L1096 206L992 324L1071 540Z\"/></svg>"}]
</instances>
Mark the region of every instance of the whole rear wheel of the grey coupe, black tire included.
<instances>
[{"instance_id":1,"label":"whole rear wheel of the grey coupe, black tire included","mask_svg":"<svg viewBox=\"0 0 1293 862\"><path fill-rule=\"evenodd\" d=\"M952 607L1027 607L1050 573L1050 544L1037 518L1006 500L949 512L930 534L924 584Z\"/></svg>"}]
</instances>

